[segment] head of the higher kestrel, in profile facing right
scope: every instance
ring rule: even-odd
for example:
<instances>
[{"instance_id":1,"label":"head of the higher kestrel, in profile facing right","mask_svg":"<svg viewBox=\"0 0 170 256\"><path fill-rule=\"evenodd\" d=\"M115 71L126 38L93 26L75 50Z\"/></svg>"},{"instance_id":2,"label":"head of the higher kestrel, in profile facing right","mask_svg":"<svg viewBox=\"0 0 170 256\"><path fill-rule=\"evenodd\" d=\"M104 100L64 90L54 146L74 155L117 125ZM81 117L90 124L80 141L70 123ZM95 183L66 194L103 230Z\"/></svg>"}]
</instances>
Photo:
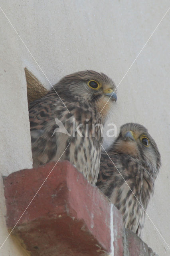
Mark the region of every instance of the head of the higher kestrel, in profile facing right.
<instances>
[{"instance_id":1,"label":"head of the higher kestrel, in profile facing right","mask_svg":"<svg viewBox=\"0 0 170 256\"><path fill-rule=\"evenodd\" d=\"M82 106L95 105L98 112L103 109L101 113L104 116L117 100L116 86L111 78L93 70L67 75L55 85L55 89L62 100L70 99L72 102L80 102Z\"/></svg>"}]
</instances>

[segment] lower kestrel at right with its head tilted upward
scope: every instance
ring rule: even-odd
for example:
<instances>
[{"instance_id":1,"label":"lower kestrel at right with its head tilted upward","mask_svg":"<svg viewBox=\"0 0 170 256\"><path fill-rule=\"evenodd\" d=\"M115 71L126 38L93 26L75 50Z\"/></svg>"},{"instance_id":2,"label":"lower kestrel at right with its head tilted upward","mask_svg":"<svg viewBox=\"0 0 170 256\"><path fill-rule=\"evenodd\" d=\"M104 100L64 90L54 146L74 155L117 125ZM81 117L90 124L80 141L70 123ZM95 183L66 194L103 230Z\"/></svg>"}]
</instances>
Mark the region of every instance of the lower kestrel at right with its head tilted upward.
<instances>
[{"instance_id":1,"label":"lower kestrel at right with its head tilted upward","mask_svg":"<svg viewBox=\"0 0 170 256\"><path fill-rule=\"evenodd\" d=\"M125 228L141 237L145 211L161 166L160 153L144 126L121 126L118 138L101 153L97 186L120 210Z\"/></svg>"}]
</instances>

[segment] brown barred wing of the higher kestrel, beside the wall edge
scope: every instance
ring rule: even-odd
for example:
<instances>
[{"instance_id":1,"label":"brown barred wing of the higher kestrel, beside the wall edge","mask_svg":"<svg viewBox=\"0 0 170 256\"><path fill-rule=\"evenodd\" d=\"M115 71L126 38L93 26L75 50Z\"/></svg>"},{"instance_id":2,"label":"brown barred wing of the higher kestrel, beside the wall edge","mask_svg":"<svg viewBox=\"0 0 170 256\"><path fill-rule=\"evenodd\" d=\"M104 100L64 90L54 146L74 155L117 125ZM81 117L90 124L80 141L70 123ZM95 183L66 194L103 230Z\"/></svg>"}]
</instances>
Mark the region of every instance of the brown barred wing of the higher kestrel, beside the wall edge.
<instances>
[{"instance_id":1,"label":"brown barred wing of the higher kestrel, beside the wall edge","mask_svg":"<svg viewBox=\"0 0 170 256\"><path fill-rule=\"evenodd\" d=\"M45 96L29 104L30 130L32 139L33 166L45 164L57 152L58 128L55 118L61 118L65 111L56 96Z\"/></svg>"}]
</instances>

